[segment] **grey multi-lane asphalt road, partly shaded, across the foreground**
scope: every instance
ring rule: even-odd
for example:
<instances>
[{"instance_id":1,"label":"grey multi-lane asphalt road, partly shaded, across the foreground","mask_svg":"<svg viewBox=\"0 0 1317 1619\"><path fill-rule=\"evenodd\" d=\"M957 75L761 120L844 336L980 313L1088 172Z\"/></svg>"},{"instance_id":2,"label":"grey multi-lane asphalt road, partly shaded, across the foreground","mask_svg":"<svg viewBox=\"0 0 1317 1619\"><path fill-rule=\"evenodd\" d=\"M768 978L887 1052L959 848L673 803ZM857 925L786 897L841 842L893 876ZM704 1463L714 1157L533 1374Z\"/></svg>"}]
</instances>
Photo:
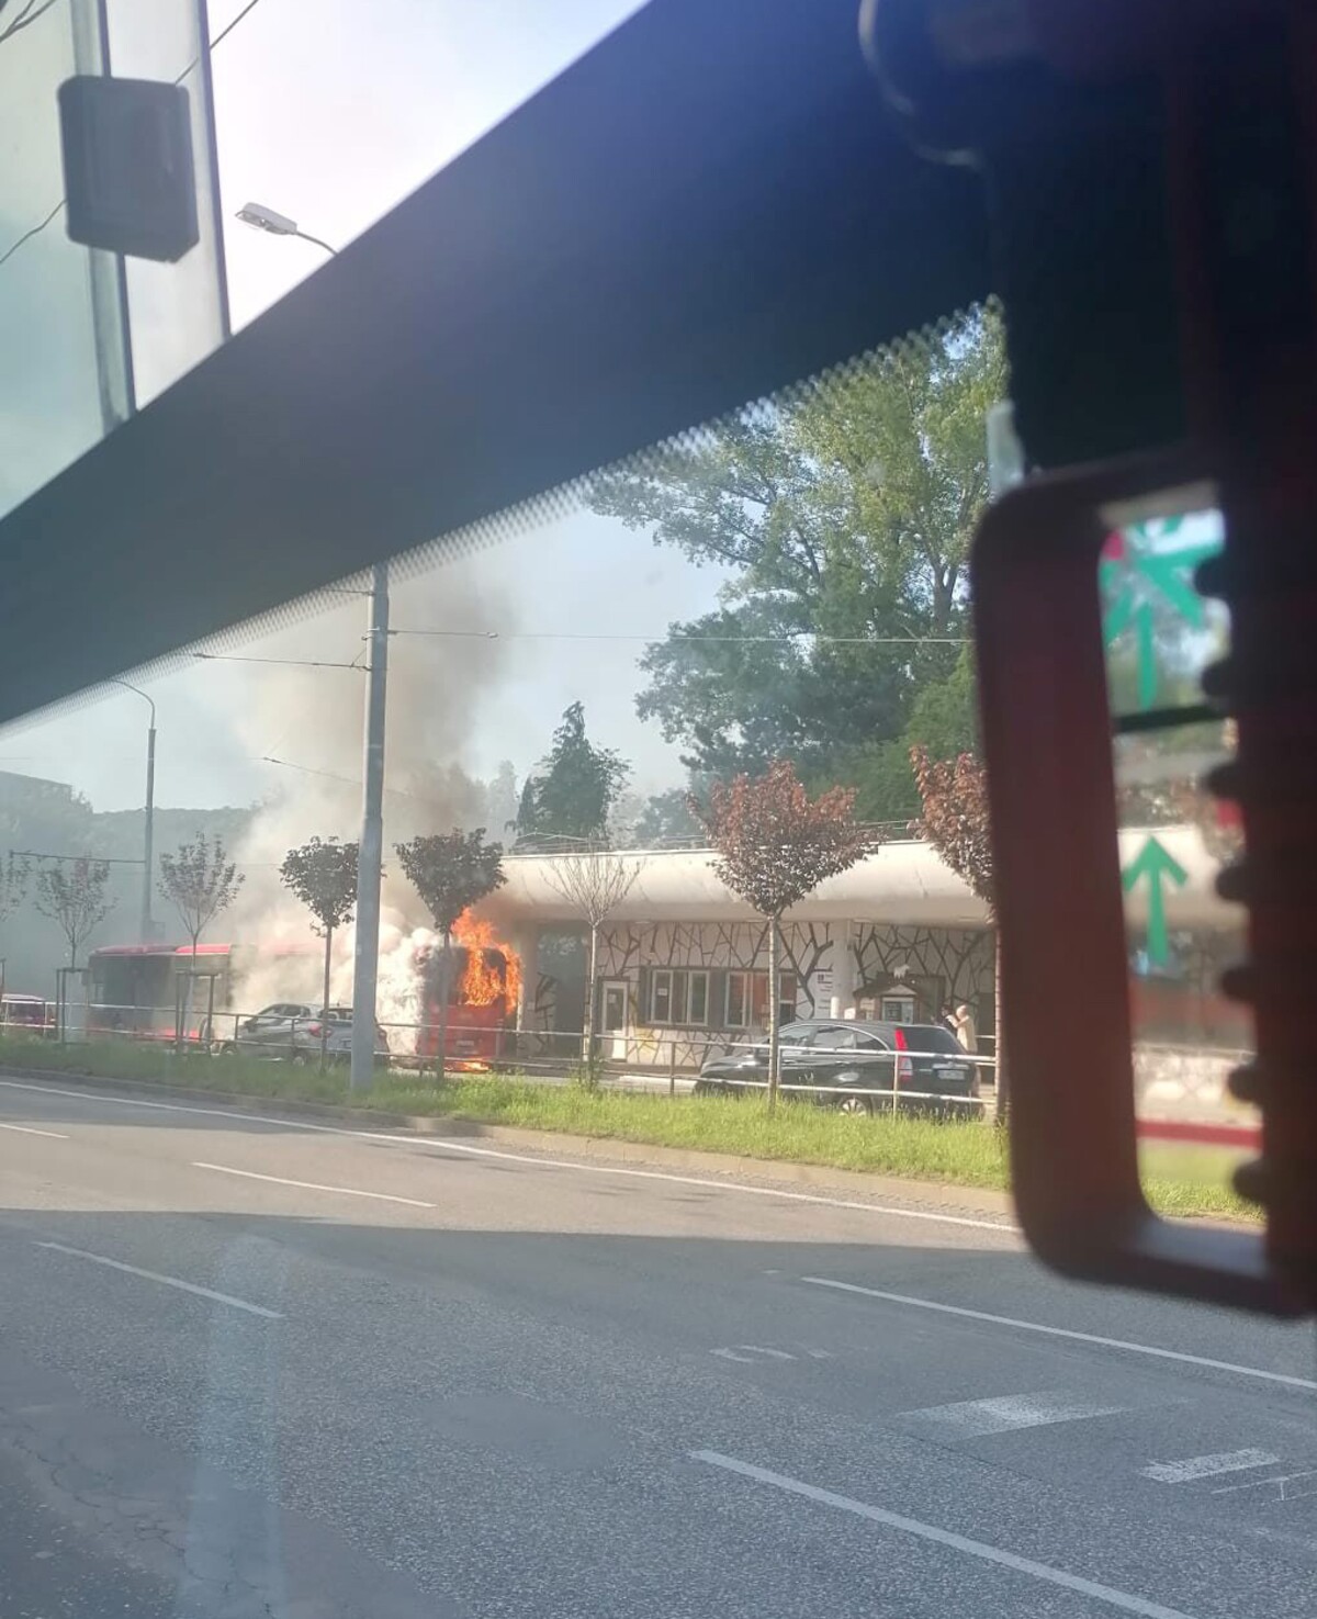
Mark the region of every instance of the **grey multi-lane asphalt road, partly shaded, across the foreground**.
<instances>
[{"instance_id":1,"label":"grey multi-lane asphalt road, partly shaded, across the foreground","mask_svg":"<svg viewBox=\"0 0 1317 1619\"><path fill-rule=\"evenodd\" d=\"M1311 1331L929 1198L0 1078L0 1614L1311 1619Z\"/></svg>"}]
</instances>

